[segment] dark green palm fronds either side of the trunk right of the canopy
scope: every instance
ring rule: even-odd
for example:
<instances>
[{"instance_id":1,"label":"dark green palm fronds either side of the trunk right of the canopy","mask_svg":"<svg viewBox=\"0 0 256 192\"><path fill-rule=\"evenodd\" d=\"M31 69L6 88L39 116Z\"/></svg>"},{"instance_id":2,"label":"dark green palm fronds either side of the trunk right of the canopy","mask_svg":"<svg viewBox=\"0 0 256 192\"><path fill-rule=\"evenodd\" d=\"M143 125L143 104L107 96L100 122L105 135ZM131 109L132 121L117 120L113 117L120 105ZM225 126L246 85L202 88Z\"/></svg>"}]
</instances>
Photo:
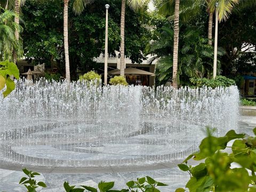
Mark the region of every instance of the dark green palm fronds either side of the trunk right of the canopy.
<instances>
[{"instance_id":1,"label":"dark green palm fronds either side of the trunk right of the canopy","mask_svg":"<svg viewBox=\"0 0 256 192\"><path fill-rule=\"evenodd\" d=\"M186 28L185 28L186 27ZM172 78L173 27L169 24L155 30L154 42L146 47L149 54L157 55L156 82L164 84ZM213 47L202 37L202 29L182 26L179 35L178 76L180 84L189 78L210 77L212 74ZM219 48L218 54L224 51ZM219 68L218 68L219 71Z\"/></svg>"}]
</instances>

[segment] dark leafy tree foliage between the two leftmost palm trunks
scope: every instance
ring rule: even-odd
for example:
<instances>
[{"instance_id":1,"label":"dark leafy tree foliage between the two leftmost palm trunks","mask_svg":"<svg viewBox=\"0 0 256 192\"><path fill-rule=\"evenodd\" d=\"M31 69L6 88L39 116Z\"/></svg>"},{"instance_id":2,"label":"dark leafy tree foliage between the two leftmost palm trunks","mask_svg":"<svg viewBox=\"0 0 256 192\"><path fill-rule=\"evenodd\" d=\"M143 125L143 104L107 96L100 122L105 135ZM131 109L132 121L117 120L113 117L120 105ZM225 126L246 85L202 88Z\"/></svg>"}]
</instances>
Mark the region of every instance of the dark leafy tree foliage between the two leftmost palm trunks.
<instances>
[{"instance_id":1,"label":"dark leafy tree foliage between the two leftmost palm trunks","mask_svg":"<svg viewBox=\"0 0 256 192\"><path fill-rule=\"evenodd\" d=\"M22 7L23 46L26 60L45 63L45 67L60 59L63 49L63 14L60 1L26 1Z\"/></svg>"}]
</instances>

